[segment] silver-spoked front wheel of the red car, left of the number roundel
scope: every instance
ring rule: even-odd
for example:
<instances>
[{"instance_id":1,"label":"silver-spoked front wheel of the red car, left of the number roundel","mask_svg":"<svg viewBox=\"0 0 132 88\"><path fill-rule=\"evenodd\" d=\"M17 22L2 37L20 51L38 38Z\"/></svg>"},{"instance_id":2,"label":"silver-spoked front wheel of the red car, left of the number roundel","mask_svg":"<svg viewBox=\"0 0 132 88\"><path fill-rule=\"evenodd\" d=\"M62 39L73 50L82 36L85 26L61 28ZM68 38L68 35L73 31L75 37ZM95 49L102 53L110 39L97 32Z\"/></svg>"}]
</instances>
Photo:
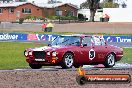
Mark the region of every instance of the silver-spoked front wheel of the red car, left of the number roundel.
<instances>
[{"instance_id":1,"label":"silver-spoked front wheel of the red car, left of the number roundel","mask_svg":"<svg viewBox=\"0 0 132 88\"><path fill-rule=\"evenodd\" d=\"M66 53L63 57L61 67L64 69L71 68L73 66L73 54Z\"/></svg>"}]
</instances>

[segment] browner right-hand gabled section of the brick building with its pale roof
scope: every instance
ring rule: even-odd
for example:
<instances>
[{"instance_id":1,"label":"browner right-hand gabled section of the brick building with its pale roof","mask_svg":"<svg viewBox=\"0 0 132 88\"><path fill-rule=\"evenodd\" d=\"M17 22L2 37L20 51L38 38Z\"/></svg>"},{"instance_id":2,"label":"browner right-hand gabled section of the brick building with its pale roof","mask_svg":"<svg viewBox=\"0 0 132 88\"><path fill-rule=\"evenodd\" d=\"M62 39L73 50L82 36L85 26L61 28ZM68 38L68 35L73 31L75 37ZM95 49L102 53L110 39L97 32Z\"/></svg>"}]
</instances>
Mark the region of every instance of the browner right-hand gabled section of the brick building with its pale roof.
<instances>
[{"instance_id":1,"label":"browner right-hand gabled section of the brick building with its pale roof","mask_svg":"<svg viewBox=\"0 0 132 88\"><path fill-rule=\"evenodd\" d=\"M45 16L77 16L78 7L70 3L38 4Z\"/></svg>"}]
</instances>

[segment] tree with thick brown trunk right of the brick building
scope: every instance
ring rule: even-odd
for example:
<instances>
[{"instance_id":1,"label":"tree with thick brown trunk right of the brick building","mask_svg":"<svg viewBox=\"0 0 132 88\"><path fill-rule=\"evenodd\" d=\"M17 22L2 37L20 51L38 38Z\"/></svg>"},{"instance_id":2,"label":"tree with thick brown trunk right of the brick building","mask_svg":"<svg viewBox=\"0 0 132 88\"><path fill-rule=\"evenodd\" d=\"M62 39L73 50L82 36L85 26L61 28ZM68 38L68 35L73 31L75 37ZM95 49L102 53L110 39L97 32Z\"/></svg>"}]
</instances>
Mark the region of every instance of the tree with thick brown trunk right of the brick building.
<instances>
[{"instance_id":1,"label":"tree with thick brown trunk right of the brick building","mask_svg":"<svg viewBox=\"0 0 132 88\"><path fill-rule=\"evenodd\" d=\"M80 7L88 7L90 9L90 21L94 22L94 16L96 10L99 8L100 0L87 0L86 2L82 3Z\"/></svg>"}]
</instances>

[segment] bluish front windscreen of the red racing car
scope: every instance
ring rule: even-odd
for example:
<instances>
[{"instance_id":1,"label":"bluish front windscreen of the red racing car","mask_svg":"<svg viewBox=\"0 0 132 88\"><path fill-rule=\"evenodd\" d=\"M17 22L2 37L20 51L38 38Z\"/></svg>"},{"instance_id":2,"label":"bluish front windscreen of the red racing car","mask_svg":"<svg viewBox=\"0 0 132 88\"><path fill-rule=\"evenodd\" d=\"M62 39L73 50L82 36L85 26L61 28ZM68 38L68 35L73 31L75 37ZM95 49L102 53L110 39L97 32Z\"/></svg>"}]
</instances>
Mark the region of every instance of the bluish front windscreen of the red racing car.
<instances>
[{"instance_id":1,"label":"bluish front windscreen of the red racing car","mask_svg":"<svg viewBox=\"0 0 132 88\"><path fill-rule=\"evenodd\" d=\"M56 45L80 45L80 37L78 36L59 36L52 43L52 46Z\"/></svg>"}]
</instances>

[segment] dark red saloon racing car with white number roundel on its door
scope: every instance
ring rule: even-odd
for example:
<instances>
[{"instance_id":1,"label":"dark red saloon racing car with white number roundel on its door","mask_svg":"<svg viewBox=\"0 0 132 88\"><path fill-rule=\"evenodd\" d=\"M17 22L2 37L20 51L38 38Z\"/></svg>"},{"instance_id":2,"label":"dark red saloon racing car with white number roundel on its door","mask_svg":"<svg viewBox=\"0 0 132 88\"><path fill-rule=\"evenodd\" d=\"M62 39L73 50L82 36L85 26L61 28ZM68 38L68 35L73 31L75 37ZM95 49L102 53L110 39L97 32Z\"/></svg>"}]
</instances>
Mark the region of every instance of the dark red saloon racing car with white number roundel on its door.
<instances>
[{"instance_id":1,"label":"dark red saloon racing car with white number roundel on its door","mask_svg":"<svg viewBox=\"0 0 132 88\"><path fill-rule=\"evenodd\" d=\"M110 68L121 60L123 49L108 45L100 36L62 35L48 46L26 49L24 55L32 69L45 65L58 65L67 69L97 64Z\"/></svg>"}]
</instances>

